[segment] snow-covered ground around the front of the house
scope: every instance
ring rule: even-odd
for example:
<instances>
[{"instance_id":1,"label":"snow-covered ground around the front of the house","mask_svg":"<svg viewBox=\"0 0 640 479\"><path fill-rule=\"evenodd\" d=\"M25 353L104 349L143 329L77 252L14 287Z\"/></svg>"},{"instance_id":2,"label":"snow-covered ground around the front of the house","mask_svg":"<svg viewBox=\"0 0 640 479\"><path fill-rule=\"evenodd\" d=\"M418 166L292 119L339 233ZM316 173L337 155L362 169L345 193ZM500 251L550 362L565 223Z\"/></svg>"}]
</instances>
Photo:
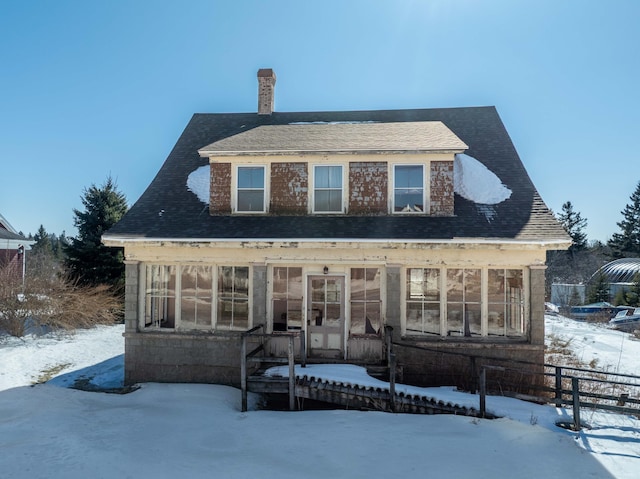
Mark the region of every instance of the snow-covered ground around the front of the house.
<instances>
[{"instance_id":1,"label":"snow-covered ground around the front of the house","mask_svg":"<svg viewBox=\"0 0 640 479\"><path fill-rule=\"evenodd\" d=\"M582 360L637 373L640 342L547 317ZM504 418L360 411L240 412L236 389L143 384L125 395L69 389L78 379L122 384L122 326L73 336L0 339L0 477L618 477L640 474L640 421L583 412L579 433L555 426L571 411L489 397ZM359 368L317 367L350 382ZM46 384L31 384L58 374ZM478 404L451 388L425 395Z\"/></svg>"}]
</instances>

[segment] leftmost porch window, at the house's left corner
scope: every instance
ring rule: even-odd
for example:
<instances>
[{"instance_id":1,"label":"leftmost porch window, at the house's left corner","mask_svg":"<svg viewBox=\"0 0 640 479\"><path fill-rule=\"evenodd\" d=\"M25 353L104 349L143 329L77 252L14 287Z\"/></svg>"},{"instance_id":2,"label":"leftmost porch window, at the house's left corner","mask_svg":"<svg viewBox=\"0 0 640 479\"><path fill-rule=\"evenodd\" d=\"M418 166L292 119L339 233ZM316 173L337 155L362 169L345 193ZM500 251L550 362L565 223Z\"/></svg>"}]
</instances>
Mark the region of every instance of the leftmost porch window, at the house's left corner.
<instances>
[{"instance_id":1,"label":"leftmost porch window, at the house's left corner","mask_svg":"<svg viewBox=\"0 0 640 479\"><path fill-rule=\"evenodd\" d=\"M176 267L147 265L145 279L145 328L175 328Z\"/></svg>"}]
</instances>

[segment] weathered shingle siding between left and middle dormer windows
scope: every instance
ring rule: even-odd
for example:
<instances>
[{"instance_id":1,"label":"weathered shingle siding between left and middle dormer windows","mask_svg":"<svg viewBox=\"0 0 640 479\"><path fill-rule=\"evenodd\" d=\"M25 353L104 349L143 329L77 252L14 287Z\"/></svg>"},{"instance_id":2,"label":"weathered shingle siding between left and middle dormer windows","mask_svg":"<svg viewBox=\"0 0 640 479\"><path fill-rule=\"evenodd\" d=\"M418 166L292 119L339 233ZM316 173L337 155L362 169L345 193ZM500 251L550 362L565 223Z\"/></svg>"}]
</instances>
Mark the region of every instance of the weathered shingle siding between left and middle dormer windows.
<instances>
[{"instance_id":1,"label":"weathered shingle siding between left and middle dormer windows","mask_svg":"<svg viewBox=\"0 0 640 479\"><path fill-rule=\"evenodd\" d=\"M306 214L309 196L307 163L271 164L272 214Z\"/></svg>"}]
</instances>

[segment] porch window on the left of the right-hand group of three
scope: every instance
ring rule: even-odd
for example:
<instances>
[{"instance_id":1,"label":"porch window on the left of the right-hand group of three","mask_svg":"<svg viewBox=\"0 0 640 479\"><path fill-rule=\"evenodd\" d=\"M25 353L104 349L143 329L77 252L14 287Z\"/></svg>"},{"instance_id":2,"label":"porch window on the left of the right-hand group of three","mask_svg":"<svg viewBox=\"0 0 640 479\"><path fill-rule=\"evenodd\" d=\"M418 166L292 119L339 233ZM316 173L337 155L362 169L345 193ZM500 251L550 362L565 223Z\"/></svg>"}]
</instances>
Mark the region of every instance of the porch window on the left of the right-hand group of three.
<instances>
[{"instance_id":1,"label":"porch window on the left of the right-hand group of three","mask_svg":"<svg viewBox=\"0 0 640 479\"><path fill-rule=\"evenodd\" d=\"M407 269L407 334L440 335L440 270Z\"/></svg>"}]
</instances>

